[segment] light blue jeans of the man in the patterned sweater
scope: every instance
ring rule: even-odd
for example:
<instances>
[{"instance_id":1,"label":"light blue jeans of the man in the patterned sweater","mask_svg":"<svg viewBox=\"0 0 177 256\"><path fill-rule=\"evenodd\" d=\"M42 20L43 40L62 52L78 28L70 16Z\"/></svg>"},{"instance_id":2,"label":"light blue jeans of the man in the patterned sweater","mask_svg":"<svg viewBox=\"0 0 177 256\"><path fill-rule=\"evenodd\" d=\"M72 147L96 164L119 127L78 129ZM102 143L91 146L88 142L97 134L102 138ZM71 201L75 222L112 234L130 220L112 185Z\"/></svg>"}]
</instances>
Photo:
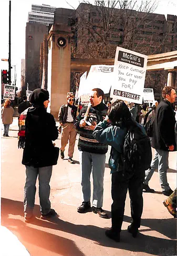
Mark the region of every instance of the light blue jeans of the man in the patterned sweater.
<instances>
[{"instance_id":1,"label":"light blue jeans of the man in the patterned sweater","mask_svg":"<svg viewBox=\"0 0 177 256\"><path fill-rule=\"evenodd\" d=\"M90 201L90 174L93 176L93 202L92 206L102 207L103 203L103 179L105 174L105 154L93 154L86 151L80 153L81 186L84 201Z\"/></svg>"}]
</instances>

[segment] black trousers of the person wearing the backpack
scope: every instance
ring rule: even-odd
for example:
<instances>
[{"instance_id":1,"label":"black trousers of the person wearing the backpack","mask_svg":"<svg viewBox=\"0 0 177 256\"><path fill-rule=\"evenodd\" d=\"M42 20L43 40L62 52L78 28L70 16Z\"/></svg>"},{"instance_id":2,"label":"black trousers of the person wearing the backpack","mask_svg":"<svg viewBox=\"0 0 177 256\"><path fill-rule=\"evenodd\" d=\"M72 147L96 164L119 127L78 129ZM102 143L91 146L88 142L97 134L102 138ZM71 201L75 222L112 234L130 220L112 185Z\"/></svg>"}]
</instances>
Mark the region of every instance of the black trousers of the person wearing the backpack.
<instances>
[{"instance_id":1,"label":"black trousers of the person wearing the backpack","mask_svg":"<svg viewBox=\"0 0 177 256\"><path fill-rule=\"evenodd\" d=\"M124 174L122 172L112 173L111 196L111 221L114 232L120 233L123 222L124 207L129 190L132 224L140 227L141 215L143 211L143 181L145 173L136 172Z\"/></svg>"}]
</instances>

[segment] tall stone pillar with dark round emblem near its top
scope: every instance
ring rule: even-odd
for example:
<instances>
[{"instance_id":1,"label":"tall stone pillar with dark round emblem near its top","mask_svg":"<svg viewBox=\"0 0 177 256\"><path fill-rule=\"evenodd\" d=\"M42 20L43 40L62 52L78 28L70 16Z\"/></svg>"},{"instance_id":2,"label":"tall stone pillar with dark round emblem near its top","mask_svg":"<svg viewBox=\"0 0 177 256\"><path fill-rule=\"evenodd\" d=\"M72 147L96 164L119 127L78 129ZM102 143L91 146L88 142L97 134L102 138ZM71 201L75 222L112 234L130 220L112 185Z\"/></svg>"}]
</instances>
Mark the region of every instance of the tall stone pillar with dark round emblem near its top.
<instances>
[{"instance_id":1,"label":"tall stone pillar with dark round emblem near its top","mask_svg":"<svg viewBox=\"0 0 177 256\"><path fill-rule=\"evenodd\" d=\"M61 105L66 104L70 91L70 27L53 24L48 40L48 79L47 90L50 94L48 111L57 119Z\"/></svg>"}]
</instances>

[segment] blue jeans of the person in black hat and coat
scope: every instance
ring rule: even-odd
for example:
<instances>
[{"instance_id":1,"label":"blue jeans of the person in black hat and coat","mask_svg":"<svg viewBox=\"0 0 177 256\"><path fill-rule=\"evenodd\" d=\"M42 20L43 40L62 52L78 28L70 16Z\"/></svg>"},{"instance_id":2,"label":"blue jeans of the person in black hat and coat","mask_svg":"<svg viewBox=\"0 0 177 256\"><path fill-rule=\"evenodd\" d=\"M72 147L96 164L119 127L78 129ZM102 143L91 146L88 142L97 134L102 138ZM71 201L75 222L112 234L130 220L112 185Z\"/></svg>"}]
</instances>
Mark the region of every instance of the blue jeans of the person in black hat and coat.
<instances>
[{"instance_id":1,"label":"blue jeans of the person in black hat and coat","mask_svg":"<svg viewBox=\"0 0 177 256\"><path fill-rule=\"evenodd\" d=\"M50 178L52 173L52 166L34 168L33 166L26 166L26 183L24 187L24 213L29 217L33 214L36 194L36 179L39 179L39 200L40 212L47 214L50 212Z\"/></svg>"}]
</instances>

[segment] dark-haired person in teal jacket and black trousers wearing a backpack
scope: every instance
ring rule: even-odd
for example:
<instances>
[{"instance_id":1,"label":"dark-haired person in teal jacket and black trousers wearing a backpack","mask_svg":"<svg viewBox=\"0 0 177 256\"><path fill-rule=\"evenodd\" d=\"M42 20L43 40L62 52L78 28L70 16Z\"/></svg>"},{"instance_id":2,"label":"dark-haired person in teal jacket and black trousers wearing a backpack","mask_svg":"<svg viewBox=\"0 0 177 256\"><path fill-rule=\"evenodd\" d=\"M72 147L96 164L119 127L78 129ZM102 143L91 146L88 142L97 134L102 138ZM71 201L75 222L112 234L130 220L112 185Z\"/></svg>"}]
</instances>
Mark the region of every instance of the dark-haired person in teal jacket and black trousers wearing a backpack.
<instances>
[{"instance_id":1,"label":"dark-haired person in teal jacket and black trousers wearing a backpack","mask_svg":"<svg viewBox=\"0 0 177 256\"><path fill-rule=\"evenodd\" d=\"M106 230L108 238L119 242L127 190L129 190L132 223L128 232L135 238L143 211L143 181L145 169L152 159L150 139L144 128L133 120L122 100L112 103L108 116L93 130L99 143L111 147L109 167L112 174L112 226Z\"/></svg>"}]
</instances>

